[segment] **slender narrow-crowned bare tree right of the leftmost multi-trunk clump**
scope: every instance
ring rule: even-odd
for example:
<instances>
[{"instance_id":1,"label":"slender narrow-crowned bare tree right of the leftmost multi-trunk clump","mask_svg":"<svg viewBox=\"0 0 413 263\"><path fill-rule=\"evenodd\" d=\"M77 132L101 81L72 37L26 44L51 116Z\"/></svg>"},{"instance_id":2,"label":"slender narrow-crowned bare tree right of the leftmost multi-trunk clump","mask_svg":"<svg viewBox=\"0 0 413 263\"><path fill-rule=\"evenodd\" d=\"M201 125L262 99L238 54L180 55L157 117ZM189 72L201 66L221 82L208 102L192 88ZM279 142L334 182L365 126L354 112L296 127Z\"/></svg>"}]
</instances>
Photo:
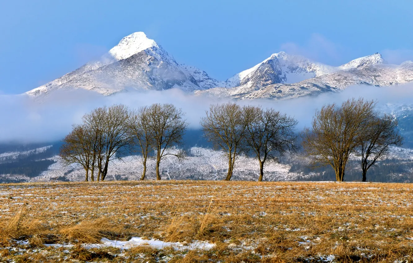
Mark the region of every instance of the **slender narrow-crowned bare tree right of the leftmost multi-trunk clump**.
<instances>
[{"instance_id":1,"label":"slender narrow-crowned bare tree right of the leftmost multi-trunk clump","mask_svg":"<svg viewBox=\"0 0 413 263\"><path fill-rule=\"evenodd\" d=\"M146 162L149 154L152 152L154 143L154 131L150 125L150 108L140 107L129 113L128 129L133 138L133 145L138 146L142 153L143 171L140 180L145 179Z\"/></svg>"}]
</instances>

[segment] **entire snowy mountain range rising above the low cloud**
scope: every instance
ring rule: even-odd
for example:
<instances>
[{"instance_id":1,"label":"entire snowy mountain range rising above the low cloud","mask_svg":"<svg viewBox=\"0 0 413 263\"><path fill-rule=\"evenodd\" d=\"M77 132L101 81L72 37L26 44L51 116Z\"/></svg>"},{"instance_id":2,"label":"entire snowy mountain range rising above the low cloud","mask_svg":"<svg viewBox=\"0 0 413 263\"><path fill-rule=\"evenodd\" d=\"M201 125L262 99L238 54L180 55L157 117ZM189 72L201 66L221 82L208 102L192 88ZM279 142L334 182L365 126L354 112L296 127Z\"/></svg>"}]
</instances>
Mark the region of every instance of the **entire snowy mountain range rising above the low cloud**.
<instances>
[{"instance_id":1,"label":"entire snowy mountain range rising above the low cloud","mask_svg":"<svg viewBox=\"0 0 413 263\"><path fill-rule=\"evenodd\" d=\"M391 65L378 53L335 67L279 52L220 81L203 70L178 63L145 33L136 32L123 38L101 61L86 63L26 94L41 99L55 90L86 89L111 95L179 88L199 96L284 99L351 85L389 86L412 80L412 61Z\"/></svg>"}]
</instances>

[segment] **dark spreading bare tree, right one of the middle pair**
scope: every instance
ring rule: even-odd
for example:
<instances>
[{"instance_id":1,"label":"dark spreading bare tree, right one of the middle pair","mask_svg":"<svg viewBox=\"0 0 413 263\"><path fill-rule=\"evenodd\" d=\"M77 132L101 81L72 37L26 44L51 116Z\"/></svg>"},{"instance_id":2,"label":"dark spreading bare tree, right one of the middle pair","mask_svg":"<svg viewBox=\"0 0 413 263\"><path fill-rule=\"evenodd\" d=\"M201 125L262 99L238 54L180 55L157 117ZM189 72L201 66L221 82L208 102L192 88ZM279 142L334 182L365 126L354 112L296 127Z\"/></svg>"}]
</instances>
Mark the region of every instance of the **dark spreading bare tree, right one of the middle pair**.
<instances>
[{"instance_id":1,"label":"dark spreading bare tree, right one of the middle pair","mask_svg":"<svg viewBox=\"0 0 413 263\"><path fill-rule=\"evenodd\" d=\"M297 149L297 134L294 132L297 120L273 108L263 110L258 106L245 108L247 117L245 143L247 150L258 158L262 181L264 164L267 160L278 161L286 151Z\"/></svg>"}]
</instances>

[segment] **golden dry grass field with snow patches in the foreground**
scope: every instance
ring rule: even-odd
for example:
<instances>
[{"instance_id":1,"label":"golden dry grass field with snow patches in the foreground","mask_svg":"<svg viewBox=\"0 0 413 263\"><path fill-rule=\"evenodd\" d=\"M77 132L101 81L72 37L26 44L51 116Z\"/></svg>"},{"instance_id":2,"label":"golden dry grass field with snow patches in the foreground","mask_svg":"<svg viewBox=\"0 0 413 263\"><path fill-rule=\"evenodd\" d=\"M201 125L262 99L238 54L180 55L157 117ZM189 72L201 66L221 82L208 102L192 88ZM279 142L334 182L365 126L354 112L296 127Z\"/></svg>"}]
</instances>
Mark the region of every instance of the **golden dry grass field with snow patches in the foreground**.
<instances>
[{"instance_id":1,"label":"golden dry grass field with snow patches in the foreground","mask_svg":"<svg viewBox=\"0 0 413 263\"><path fill-rule=\"evenodd\" d=\"M0 262L413 260L411 184L21 183L0 200Z\"/></svg>"}]
</instances>

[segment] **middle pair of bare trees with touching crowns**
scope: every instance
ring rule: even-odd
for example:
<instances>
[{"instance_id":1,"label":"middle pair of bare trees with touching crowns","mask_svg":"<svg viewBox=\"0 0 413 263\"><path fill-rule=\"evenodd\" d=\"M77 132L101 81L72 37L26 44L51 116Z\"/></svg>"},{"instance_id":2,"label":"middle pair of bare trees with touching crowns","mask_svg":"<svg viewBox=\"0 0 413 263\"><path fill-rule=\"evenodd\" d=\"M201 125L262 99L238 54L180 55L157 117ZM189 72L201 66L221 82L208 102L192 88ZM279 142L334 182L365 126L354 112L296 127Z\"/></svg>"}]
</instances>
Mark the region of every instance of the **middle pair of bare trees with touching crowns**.
<instances>
[{"instance_id":1,"label":"middle pair of bare trees with touching crowns","mask_svg":"<svg viewBox=\"0 0 413 263\"><path fill-rule=\"evenodd\" d=\"M288 150L296 150L297 120L259 106L240 106L235 103L215 104L209 107L201 125L204 134L215 148L228 158L230 181L235 162L241 153L254 155L259 163L259 179L263 179L264 164L277 161Z\"/></svg>"}]
</instances>

